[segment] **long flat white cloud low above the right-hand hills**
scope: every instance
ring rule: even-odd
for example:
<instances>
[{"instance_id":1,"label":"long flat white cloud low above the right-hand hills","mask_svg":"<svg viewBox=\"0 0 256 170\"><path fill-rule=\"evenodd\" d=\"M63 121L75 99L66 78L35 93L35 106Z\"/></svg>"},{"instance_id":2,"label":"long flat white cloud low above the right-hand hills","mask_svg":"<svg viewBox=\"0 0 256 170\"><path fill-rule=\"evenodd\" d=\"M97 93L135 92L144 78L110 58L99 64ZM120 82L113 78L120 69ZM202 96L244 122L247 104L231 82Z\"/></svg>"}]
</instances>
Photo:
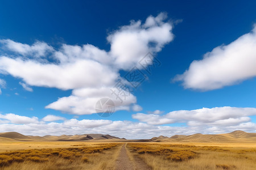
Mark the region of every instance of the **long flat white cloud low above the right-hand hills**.
<instances>
[{"instance_id":1,"label":"long flat white cloud low above the right-hand hills","mask_svg":"<svg viewBox=\"0 0 256 170\"><path fill-rule=\"evenodd\" d=\"M163 116L156 114L133 114L133 118L152 125L163 125L185 122L189 126L231 126L249 122L256 115L256 108L216 107L192 111L173 111Z\"/></svg>"}]
</instances>

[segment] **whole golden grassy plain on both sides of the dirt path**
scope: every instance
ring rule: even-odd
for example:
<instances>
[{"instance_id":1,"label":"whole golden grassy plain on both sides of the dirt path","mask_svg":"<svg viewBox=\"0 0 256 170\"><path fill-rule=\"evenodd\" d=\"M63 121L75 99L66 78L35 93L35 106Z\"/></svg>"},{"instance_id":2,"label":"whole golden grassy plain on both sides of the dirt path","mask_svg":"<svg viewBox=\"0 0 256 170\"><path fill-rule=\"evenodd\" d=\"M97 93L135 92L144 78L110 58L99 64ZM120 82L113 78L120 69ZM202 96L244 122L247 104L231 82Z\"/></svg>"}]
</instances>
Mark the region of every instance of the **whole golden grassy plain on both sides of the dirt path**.
<instances>
[{"instance_id":1,"label":"whole golden grassy plain on both sides of the dirt path","mask_svg":"<svg viewBox=\"0 0 256 170\"><path fill-rule=\"evenodd\" d=\"M126 142L152 169L255 169L256 143ZM123 142L0 143L0 169L115 169Z\"/></svg>"}]
</instances>

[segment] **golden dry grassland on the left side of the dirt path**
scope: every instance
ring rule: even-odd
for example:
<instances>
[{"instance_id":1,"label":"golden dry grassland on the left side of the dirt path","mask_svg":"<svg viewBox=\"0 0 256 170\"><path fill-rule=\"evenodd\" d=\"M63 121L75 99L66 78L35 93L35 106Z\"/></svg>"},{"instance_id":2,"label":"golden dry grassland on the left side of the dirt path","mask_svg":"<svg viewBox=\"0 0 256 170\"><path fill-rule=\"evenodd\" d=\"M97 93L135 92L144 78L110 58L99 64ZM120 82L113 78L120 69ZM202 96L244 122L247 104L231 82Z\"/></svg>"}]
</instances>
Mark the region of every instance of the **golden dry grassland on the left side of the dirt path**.
<instances>
[{"instance_id":1,"label":"golden dry grassland on the left side of the dirt path","mask_svg":"<svg viewBox=\"0 0 256 170\"><path fill-rule=\"evenodd\" d=\"M73 145L8 151L0 154L0 169L113 169L119 143Z\"/></svg>"}]
</instances>

